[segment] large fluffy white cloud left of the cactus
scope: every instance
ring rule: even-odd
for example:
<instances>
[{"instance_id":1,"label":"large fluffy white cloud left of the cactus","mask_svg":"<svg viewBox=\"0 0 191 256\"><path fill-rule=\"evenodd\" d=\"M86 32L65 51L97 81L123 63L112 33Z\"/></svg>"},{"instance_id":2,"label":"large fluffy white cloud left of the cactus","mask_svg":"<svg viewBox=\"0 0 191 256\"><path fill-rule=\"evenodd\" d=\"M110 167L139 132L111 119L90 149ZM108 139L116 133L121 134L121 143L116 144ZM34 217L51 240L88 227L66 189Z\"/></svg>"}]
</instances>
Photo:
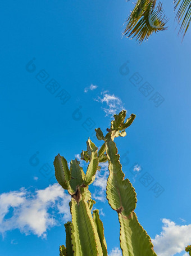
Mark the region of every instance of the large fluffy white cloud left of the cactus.
<instances>
[{"instance_id":1,"label":"large fluffy white cloud left of the cactus","mask_svg":"<svg viewBox=\"0 0 191 256\"><path fill-rule=\"evenodd\" d=\"M35 192L21 188L3 193L0 195L0 232L3 235L18 228L26 235L46 237L48 228L60 224L54 218L56 212L62 214L65 221L70 219L69 201L70 196L58 184Z\"/></svg>"}]
</instances>

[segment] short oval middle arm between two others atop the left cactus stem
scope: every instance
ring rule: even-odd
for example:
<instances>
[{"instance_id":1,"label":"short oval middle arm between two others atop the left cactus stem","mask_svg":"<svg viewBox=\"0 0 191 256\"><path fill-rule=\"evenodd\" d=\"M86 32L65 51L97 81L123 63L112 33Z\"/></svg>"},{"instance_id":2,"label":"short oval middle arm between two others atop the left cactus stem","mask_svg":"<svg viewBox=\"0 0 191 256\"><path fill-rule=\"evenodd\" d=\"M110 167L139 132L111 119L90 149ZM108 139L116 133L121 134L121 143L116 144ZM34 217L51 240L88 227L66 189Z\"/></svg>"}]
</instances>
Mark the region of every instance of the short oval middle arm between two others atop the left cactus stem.
<instances>
[{"instance_id":1,"label":"short oval middle arm between two others atop the left cactus stem","mask_svg":"<svg viewBox=\"0 0 191 256\"><path fill-rule=\"evenodd\" d=\"M85 176L83 169L80 167L80 162L75 159L70 162L70 186L73 191L76 191L77 188L83 183L83 178Z\"/></svg>"}]
</instances>

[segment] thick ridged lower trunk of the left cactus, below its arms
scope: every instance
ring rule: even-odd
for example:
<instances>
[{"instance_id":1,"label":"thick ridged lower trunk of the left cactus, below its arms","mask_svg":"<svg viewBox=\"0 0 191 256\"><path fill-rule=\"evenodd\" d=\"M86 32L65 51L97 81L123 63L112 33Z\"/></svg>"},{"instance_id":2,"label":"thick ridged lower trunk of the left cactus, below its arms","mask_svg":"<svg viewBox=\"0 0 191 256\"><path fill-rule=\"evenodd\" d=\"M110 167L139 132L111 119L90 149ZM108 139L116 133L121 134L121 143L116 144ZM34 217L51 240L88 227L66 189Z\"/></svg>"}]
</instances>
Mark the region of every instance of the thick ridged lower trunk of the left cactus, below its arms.
<instances>
[{"instance_id":1,"label":"thick ridged lower trunk of the left cactus, below its arms","mask_svg":"<svg viewBox=\"0 0 191 256\"><path fill-rule=\"evenodd\" d=\"M72 248L74 256L103 256L101 242L88 203L71 199Z\"/></svg>"}]
</instances>

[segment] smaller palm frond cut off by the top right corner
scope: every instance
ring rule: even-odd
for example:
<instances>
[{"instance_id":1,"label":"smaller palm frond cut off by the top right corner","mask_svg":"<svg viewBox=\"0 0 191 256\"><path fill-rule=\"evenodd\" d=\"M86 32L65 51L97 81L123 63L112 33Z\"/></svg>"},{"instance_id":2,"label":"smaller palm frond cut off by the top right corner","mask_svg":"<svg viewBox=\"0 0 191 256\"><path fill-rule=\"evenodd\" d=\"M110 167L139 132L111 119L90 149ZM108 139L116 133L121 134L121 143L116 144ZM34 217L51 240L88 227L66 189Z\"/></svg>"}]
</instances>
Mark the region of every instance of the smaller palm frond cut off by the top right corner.
<instances>
[{"instance_id":1,"label":"smaller palm frond cut off by the top right corner","mask_svg":"<svg viewBox=\"0 0 191 256\"><path fill-rule=\"evenodd\" d=\"M183 20L180 26L179 33L184 32L184 38L191 21L191 0L175 0L175 10L178 7L179 10L176 14L176 19L178 19L179 23L181 20Z\"/></svg>"}]
</instances>

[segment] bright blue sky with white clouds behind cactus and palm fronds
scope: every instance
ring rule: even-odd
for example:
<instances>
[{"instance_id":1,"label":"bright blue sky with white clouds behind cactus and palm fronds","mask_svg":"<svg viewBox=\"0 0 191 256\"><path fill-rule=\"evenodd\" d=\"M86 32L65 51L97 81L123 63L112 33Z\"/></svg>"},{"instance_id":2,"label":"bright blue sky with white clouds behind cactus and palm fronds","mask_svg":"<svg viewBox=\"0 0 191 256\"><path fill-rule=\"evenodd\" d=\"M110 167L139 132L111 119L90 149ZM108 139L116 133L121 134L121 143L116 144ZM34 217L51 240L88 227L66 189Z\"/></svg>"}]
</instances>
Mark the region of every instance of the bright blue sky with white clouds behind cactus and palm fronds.
<instances>
[{"instance_id":1,"label":"bright blue sky with white clouds behind cactus and palm fronds","mask_svg":"<svg viewBox=\"0 0 191 256\"><path fill-rule=\"evenodd\" d=\"M154 240L159 256L184 255L174 247L191 243L191 32L181 43L173 3L163 6L169 29L139 46L121 37L131 2L2 3L0 255L58 255L69 199L54 185L54 156L78 157L88 137L100 146L94 129L105 130L110 113L123 108L137 115L116 143L137 191L139 221L152 239L163 227ZM117 215L103 200L106 177L103 167L90 190L108 252L118 256Z\"/></svg>"}]
</instances>

